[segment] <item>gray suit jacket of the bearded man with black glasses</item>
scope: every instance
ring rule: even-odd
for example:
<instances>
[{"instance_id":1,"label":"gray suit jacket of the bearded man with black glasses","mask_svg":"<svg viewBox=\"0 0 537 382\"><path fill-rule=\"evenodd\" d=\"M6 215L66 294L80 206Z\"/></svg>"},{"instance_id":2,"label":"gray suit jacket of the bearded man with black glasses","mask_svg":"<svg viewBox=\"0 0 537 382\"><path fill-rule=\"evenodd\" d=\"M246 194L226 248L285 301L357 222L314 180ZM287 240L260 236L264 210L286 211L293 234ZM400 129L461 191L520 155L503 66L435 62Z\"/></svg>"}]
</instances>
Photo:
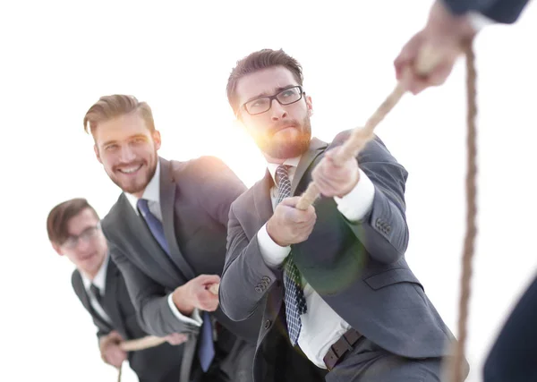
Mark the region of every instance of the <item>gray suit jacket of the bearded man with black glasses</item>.
<instances>
[{"instance_id":1,"label":"gray suit jacket of the bearded man with black glasses","mask_svg":"<svg viewBox=\"0 0 537 382\"><path fill-rule=\"evenodd\" d=\"M305 191L324 152L347 136L348 132L340 133L329 146L311 140L294 175L293 195ZM442 356L453 336L405 261L405 168L378 137L362 150L358 163L375 186L371 212L354 224L339 213L334 199L317 199L317 222L307 241L292 246L294 262L328 305L372 342L406 357ZM256 378L265 372L263 359L269 350L263 343L268 333L286 327L279 315L282 270L267 267L256 236L273 213L272 185L267 174L234 201L220 286L220 304L229 317L242 320L256 310L264 312Z\"/></svg>"}]
</instances>

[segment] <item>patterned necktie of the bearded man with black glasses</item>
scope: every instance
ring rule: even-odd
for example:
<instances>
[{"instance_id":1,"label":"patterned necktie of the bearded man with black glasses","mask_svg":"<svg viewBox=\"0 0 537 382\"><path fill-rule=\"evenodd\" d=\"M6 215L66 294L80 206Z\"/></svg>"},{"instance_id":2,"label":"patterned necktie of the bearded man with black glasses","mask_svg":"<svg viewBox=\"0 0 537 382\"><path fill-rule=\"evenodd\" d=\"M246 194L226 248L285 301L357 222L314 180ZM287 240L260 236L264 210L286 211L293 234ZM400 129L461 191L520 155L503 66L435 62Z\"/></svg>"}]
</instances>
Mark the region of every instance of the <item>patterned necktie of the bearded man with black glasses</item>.
<instances>
[{"instance_id":1,"label":"patterned necktie of the bearded man with black glasses","mask_svg":"<svg viewBox=\"0 0 537 382\"><path fill-rule=\"evenodd\" d=\"M289 181L288 166L278 166L276 170L277 179L277 203L291 196L291 182ZM287 256L284 272L285 301L286 301L286 318L287 331L291 344L296 344L302 321L300 316L307 311L306 299L303 289L300 286L300 273L294 265L293 252Z\"/></svg>"}]
</instances>

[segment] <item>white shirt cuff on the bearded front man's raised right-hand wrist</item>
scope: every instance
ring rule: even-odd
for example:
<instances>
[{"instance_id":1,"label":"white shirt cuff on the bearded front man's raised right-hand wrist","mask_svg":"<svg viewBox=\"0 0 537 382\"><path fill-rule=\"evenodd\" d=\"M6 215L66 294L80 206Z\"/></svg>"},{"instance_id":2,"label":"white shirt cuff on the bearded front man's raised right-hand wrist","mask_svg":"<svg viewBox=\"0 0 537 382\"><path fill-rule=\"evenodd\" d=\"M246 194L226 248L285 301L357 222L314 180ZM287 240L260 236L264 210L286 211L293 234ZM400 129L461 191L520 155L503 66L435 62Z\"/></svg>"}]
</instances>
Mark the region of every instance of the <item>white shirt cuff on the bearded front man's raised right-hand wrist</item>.
<instances>
[{"instance_id":1,"label":"white shirt cuff on the bearded front man's raised right-hand wrist","mask_svg":"<svg viewBox=\"0 0 537 382\"><path fill-rule=\"evenodd\" d=\"M334 197L339 212L351 222L362 220L363 216L371 210L375 197L375 186L371 179L361 168L358 171L360 172L360 180L354 189L343 198Z\"/></svg>"}]
</instances>

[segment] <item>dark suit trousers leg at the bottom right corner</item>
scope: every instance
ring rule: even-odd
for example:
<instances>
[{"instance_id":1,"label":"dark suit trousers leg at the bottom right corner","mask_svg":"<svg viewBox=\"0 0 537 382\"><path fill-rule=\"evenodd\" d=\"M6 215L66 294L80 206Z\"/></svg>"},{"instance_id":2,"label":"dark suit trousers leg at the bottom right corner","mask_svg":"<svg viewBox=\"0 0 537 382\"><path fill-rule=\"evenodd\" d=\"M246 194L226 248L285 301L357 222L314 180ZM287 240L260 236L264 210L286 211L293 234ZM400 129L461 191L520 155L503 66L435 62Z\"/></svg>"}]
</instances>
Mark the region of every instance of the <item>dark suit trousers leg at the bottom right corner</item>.
<instances>
[{"instance_id":1,"label":"dark suit trousers leg at the bottom right corner","mask_svg":"<svg viewBox=\"0 0 537 382\"><path fill-rule=\"evenodd\" d=\"M499 332L483 371L483 382L537 380L537 276Z\"/></svg>"}]
</instances>

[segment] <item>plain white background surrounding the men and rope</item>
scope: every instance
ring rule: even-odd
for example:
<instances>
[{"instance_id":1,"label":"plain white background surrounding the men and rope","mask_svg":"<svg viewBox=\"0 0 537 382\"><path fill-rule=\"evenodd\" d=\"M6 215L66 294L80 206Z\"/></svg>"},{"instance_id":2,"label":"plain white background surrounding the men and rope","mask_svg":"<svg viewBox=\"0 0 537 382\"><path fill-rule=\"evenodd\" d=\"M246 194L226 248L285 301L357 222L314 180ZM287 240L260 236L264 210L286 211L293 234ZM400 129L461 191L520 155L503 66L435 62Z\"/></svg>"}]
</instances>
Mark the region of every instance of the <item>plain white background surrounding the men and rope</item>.
<instances>
[{"instance_id":1,"label":"plain white background surrounding the men and rope","mask_svg":"<svg viewBox=\"0 0 537 382\"><path fill-rule=\"evenodd\" d=\"M223 158L250 186L264 168L234 125L227 75L244 55L283 47L302 64L312 128L331 140L365 122L396 85L392 61L422 27L430 1L19 1L0 6L3 380L114 381L72 265L47 242L46 217L73 197L101 216L119 191L82 129L98 97L152 106L160 155ZM476 40L479 75L479 239L473 263L468 381L533 276L537 6ZM532 38L533 36L533 38ZM406 96L377 129L409 171L406 258L456 332L465 232L465 67ZM133 381L126 368L124 381Z\"/></svg>"}]
</instances>

